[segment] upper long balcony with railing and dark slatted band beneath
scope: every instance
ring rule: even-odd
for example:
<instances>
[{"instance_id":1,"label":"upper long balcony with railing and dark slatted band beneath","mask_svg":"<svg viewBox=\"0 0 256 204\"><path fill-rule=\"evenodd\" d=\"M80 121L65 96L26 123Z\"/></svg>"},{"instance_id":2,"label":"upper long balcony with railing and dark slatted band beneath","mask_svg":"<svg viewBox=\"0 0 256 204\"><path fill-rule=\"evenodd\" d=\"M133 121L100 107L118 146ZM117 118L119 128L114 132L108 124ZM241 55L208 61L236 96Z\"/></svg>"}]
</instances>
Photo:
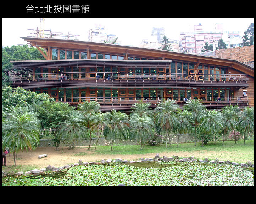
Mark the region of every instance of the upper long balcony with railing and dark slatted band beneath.
<instances>
[{"instance_id":1,"label":"upper long balcony with railing and dark slatted band beneath","mask_svg":"<svg viewBox=\"0 0 256 204\"><path fill-rule=\"evenodd\" d=\"M62 77L63 75L63 77ZM249 80L243 74L180 74L180 73L124 73L124 72L67 72L13 74L12 87L191 87L191 88L247 88ZM161 82L161 83L159 83Z\"/></svg>"}]
</instances>

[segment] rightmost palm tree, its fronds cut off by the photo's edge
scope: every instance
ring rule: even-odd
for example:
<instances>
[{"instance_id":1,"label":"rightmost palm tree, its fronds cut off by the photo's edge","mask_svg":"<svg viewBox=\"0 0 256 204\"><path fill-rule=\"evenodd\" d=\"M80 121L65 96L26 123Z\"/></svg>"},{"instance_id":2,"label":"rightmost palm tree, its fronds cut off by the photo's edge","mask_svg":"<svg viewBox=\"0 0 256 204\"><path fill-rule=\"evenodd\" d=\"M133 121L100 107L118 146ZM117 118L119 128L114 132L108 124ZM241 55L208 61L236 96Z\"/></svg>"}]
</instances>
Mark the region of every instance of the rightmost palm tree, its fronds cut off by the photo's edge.
<instances>
[{"instance_id":1,"label":"rightmost palm tree, its fronds cut off by the photo's edge","mask_svg":"<svg viewBox=\"0 0 256 204\"><path fill-rule=\"evenodd\" d=\"M244 131L244 145L245 145L245 133L246 130L254 128L254 107L244 107L244 110L241 111L239 117L239 124L241 127L245 128Z\"/></svg>"}]
</instances>

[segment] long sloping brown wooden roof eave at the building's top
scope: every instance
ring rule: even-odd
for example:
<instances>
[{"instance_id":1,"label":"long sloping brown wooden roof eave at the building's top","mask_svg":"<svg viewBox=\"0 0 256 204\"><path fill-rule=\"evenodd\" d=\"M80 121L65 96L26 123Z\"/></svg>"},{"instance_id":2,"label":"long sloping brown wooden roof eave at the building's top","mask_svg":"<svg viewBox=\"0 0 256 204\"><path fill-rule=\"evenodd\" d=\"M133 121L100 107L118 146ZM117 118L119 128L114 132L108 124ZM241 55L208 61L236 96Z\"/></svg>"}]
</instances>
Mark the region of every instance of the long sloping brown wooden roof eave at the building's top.
<instances>
[{"instance_id":1,"label":"long sloping brown wooden roof eave at the building's top","mask_svg":"<svg viewBox=\"0 0 256 204\"><path fill-rule=\"evenodd\" d=\"M200 63L200 64L213 64L217 66L226 66L237 69L245 74L254 76L254 69L250 66L247 66L243 63L240 63L236 60L222 59L217 57L206 57L199 56L196 54L189 53L179 53L172 51L163 51L155 50L150 48L140 48L140 47L131 47L131 46L121 46L114 45L109 43L96 43L89 41L78 41L78 40L66 40L66 39L40 39L35 37L22 37L25 41L30 42L33 46L39 46L42 48L51 48L56 49L78 49L86 51L87 48L91 49L91 52L105 52L105 53L114 53L114 54L124 54L128 53L128 56L147 57L147 58L165 58L172 60L181 60L191 63Z\"/></svg>"}]
</instances>

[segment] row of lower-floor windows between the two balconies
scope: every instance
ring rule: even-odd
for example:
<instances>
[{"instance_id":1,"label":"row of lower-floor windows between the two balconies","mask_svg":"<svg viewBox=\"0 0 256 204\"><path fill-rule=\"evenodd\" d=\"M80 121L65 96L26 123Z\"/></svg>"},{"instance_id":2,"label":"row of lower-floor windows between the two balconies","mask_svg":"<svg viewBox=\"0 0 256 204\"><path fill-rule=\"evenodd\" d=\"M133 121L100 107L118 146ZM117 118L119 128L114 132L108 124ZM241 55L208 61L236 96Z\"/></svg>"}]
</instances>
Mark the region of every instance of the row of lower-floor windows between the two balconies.
<instances>
[{"instance_id":1,"label":"row of lower-floor windows between the two balconies","mask_svg":"<svg viewBox=\"0 0 256 204\"><path fill-rule=\"evenodd\" d=\"M233 97L229 88L50 88L34 89L51 97ZM243 91L246 94L246 91ZM247 94L244 96L247 96Z\"/></svg>"}]
</instances>

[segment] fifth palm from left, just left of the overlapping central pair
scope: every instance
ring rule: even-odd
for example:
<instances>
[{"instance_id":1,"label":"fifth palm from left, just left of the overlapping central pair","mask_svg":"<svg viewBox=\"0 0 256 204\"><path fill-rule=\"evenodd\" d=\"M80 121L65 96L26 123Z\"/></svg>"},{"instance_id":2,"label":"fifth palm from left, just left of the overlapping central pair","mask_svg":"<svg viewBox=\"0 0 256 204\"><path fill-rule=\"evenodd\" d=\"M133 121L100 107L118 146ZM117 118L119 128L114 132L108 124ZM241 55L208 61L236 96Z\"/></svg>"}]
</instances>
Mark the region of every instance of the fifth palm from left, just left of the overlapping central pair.
<instances>
[{"instance_id":1,"label":"fifth palm from left, just left of the overlapping central pair","mask_svg":"<svg viewBox=\"0 0 256 204\"><path fill-rule=\"evenodd\" d=\"M113 141L115 139L124 139L128 138L129 127L129 116L126 113L121 113L120 111L112 110L110 114L107 115L108 120L106 127L104 128L104 135L107 139L111 139L111 151L113 146Z\"/></svg>"}]
</instances>

